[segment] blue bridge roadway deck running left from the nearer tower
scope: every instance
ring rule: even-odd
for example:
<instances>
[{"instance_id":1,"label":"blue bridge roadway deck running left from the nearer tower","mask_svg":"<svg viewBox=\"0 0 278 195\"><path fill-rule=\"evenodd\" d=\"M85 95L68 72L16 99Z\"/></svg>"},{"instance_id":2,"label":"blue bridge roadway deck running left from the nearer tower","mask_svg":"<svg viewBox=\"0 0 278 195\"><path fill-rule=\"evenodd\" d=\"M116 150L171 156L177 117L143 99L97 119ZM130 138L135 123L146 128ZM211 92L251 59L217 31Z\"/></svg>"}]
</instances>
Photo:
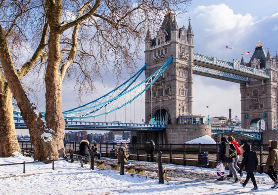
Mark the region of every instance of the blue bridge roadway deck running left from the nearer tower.
<instances>
[{"instance_id":1,"label":"blue bridge roadway deck running left from the nearer tower","mask_svg":"<svg viewBox=\"0 0 278 195\"><path fill-rule=\"evenodd\" d=\"M24 122L15 122L16 129L27 129ZM118 122L87 122L68 121L66 130L107 130L107 131L165 131L163 124L140 124L140 123L118 123Z\"/></svg>"}]
</instances>

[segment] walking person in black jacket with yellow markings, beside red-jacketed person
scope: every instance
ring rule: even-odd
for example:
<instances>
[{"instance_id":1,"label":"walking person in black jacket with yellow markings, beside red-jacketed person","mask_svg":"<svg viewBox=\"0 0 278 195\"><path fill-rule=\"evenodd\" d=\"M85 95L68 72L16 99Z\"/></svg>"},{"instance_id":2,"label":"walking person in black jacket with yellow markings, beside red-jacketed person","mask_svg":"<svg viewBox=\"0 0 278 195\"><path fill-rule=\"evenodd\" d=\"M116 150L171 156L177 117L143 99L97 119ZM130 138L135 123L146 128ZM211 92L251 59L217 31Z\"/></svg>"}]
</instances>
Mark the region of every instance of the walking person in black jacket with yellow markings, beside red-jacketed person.
<instances>
[{"instance_id":1,"label":"walking person in black jacket with yellow markings, beside red-jacketed person","mask_svg":"<svg viewBox=\"0 0 278 195\"><path fill-rule=\"evenodd\" d=\"M221 163L223 163L224 167L229 164L229 168L232 170L232 174L233 174L233 178L234 178L234 182L238 182L238 177L236 174L236 170L233 166L233 162L234 162L234 157L233 158L229 158L226 157L226 145L227 144L231 144L226 137L222 137L221 138L221 144L219 146L219 153L218 153L218 159L221 161ZM235 149L235 148L234 148ZM229 151L227 151L229 153ZM220 178L217 179L218 181L224 181L224 176L221 176Z\"/></svg>"}]
</instances>

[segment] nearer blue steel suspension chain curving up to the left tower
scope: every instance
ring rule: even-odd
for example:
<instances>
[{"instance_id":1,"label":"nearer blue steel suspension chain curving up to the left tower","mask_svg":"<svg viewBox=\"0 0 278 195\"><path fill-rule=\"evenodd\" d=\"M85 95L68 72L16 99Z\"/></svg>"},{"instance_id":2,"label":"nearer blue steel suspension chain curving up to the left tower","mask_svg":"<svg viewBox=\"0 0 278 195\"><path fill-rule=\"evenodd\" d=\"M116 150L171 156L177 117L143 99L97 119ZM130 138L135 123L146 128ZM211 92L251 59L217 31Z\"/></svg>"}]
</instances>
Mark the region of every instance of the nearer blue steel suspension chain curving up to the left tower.
<instances>
[{"instance_id":1,"label":"nearer blue steel suspension chain curving up to the left tower","mask_svg":"<svg viewBox=\"0 0 278 195\"><path fill-rule=\"evenodd\" d=\"M109 112L106 112L106 111L105 111L105 112L102 113L102 114L98 114L98 115L94 115L94 116L86 116L86 115L88 115L88 114L92 114L92 113L93 113L93 112L91 112L91 113L86 113L85 116L82 116L82 117L74 117L74 116L68 117L68 116L67 116L67 117L65 117L65 118L76 119L76 118L97 117L97 116L109 114L109 113L111 113L111 112L113 112L113 111L115 111L115 110L118 110L118 109L122 108L123 106L129 104L130 102L132 102L133 100L135 100L137 97L139 97L139 95L141 95L144 91L146 91L146 90L147 90L147 89L148 89L148 88L161 76L161 74L166 70L166 68L167 68L167 67L169 66L169 64L172 62L172 59L173 59L173 57L171 56L171 58L170 58L164 65L162 65L157 71L155 71L151 76L149 76L148 78L146 78L145 80L143 80L142 82L140 82L140 83L139 83L138 85L136 85L135 87L129 89L128 91L123 92L121 95L118 95L118 96L116 96L116 97L114 97L114 98L112 98L112 99L110 99L110 100L108 100L108 101L105 101L105 102L103 102L103 103L100 103L100 104L98 104L98 105L95 105L95 106L92 106L92 107L89 107L89 108L86 108L86 109L81 109L81 110L79 110L79 112L83 112L83 111L86 111L86 110L90 110L90 109L93 109L93 108L96 108L96 107L102 106L102 105L108 106L108 105L109 105L112 101L114 101L115 99L118 99L118 98L120 98L120 97L122 97L122 96L128 94L129 92L135 90L137 87L139 87L140 85L142 85L142 84L145 83L146 81L149 82L149 80L150 80L152 77L154 77L154 79L152 79L152 81L151 81L150 83L147 82L147 83L145 84L146 87L145 87L145 89L144 89L143 91L141 91L138 95L136 95L134 98L132 98L132 99L129 100L128 102L122 104L121 106L118 106L117 108L112 109L112 110L110 110ZM103 107L103 106L102 106L102 107ZM73 112L69 112L69 113L67 113L67 114L76 114L76 113L77 113L76 111L75 111L75 112L73 111Z\"/></svg>"}]
</instances>

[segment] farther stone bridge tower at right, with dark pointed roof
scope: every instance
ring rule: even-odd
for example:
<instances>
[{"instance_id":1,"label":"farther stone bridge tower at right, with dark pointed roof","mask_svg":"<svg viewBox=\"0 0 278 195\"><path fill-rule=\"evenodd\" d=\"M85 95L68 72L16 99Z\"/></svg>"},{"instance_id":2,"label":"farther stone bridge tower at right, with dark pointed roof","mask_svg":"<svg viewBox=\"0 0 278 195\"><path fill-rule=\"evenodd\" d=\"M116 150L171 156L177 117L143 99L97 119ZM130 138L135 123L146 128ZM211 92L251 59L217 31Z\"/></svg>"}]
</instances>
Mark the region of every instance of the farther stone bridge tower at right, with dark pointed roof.
<instances>
[{"instance_id":1,"label":"farther stone bridge tower at right, with dark pointed roof","mask_svg":"<svg viewBox=\"0 0 278 195\"><path fill-rule=\"evenodd\" d=\"M270 78L263 81L251 79L249 83L240 84L241 94L241 125L242 128L259 127L272 130L277 128L277 86L278 86L278 54L271 58L267 55L259 41L249 63L241 65L257 68L268 72Z\"/></svg>"}]
</instances>

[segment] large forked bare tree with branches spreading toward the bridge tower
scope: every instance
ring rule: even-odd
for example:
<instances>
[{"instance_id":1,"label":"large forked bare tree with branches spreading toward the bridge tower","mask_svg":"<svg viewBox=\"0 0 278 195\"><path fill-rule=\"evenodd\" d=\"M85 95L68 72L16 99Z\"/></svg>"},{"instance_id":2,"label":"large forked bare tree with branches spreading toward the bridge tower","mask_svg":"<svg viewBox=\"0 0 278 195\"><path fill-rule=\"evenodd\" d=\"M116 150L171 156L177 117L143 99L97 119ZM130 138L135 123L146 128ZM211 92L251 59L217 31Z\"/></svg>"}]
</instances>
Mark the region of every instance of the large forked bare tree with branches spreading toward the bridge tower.
<instances>
[{"instance_id":1,"label":"large forked bare tree with branches spreading toward the bridge tower","mask_svg":"<svg viewBox=\"0 0 278 195\"><path fill-rule=\"evenodd\" d=\"M64 156L62 81L76 79L79 91L93 89L94 78L113 64L114 72L132 69L149 25L160 23L165 11L184 11L190 0L46 0L49 25L45 60L46 116L35 112L14 69L11 46L0 26L0 59L34 145L34 158Z\"/></svg>"}]
</instances>

